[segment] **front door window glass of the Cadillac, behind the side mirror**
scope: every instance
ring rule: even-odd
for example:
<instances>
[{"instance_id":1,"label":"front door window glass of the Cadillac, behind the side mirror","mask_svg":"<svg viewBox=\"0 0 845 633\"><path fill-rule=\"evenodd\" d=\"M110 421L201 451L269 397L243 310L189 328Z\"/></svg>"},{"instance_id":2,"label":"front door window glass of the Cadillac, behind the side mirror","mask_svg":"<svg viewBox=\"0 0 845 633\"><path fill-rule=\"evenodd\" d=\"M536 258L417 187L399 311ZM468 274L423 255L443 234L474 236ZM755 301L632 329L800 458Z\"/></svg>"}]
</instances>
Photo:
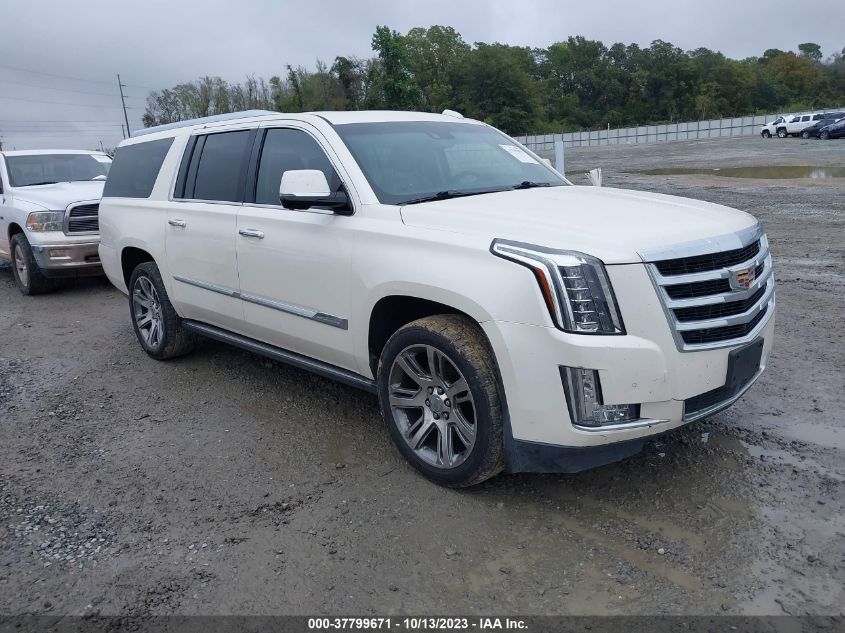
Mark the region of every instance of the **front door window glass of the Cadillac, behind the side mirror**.
<instances>
[{"instance_id":1,"label":"front door window glass of the Cadillac, behind the side mirror","mask_svg":"<svg viewBox=\"0 0 845 633\"><path fill-rule=\"evenodd\" d=\"M326 175L332 191L341 185L331 161L311 135L302 130L273 128L267 130L261 148L255 202L278 205L282 174L289 169L319 169Z\"/></svg>"}]
</instances>

